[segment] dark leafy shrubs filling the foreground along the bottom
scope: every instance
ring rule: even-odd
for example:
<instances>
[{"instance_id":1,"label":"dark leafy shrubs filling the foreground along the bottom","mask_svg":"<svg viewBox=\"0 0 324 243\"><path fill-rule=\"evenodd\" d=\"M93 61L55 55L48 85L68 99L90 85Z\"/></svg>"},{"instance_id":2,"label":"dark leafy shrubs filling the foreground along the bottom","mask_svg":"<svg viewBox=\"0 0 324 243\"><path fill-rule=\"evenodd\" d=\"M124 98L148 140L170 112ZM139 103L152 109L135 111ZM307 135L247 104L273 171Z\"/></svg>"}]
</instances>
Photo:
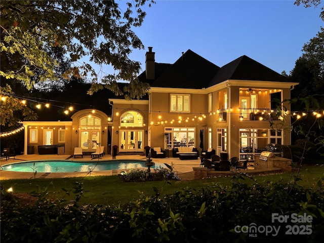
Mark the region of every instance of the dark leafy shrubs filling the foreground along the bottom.
<instances>
[{"instance_id":1,"label":"dark leafy shrubs filling the foreground along the bottom","mask_svg":"<svg viewBox=\"0 0 324 243\"><path fill-rule=\"evenodd\" d=\"M79 198L82 186L74 191ZM207 189L184 188L163 196L156 191L154 196L142 194L118 207L79 207L77 199L69 205L39 200L28 209L2 204L0 237L2 242L322 242L323 192L321 180L312 189L295 184L290 191L283 182L257 183L238 174L230 187L216 183ZM306 214L313 221L271 222L272 213ZM253 224L281 228L275 236L235 232L236 226L251 228ZM312 233L288 235L285 226L289 224L298 229L310 225Z\"/></svg>"}]
</instances>

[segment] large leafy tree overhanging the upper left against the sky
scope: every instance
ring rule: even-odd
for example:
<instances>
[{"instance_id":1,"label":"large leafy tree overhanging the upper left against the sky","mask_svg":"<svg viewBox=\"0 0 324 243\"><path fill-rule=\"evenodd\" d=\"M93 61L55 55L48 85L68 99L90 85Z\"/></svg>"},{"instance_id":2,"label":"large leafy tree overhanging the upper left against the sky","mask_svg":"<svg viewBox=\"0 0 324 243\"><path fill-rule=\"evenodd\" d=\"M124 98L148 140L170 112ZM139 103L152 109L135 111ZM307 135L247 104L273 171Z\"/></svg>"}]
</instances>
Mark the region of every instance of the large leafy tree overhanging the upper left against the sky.
<instances>
[{"instance_id":1,"label":"large leafy tree overhanging the upper left against the sky","mask_svg":"<svg viewBox=\"0 0 324 243\"><path fill-rule=\"evenodd\" d=\"M91 62L111 65L116 71L104 76L101 83L89 63L64 73L65 78L90 73L93 85L89 94L103 88L122 94L116 82L126 80L132 87L125 90L127 97L140 98L149 86L136 82L140 63L128 56L133 49L144 48L132 28L142 24L145 12L140 7L146 2L149 6L154 3L152 0L127 2L122 13L122 7L115 1L2 1L1 61L10 63L2 65L2 78L15 79L28 89L38 82L57 80L55 68L60 63L49 50L61 48L73 63L89 56Z\"/></svg>"}]
</instances>

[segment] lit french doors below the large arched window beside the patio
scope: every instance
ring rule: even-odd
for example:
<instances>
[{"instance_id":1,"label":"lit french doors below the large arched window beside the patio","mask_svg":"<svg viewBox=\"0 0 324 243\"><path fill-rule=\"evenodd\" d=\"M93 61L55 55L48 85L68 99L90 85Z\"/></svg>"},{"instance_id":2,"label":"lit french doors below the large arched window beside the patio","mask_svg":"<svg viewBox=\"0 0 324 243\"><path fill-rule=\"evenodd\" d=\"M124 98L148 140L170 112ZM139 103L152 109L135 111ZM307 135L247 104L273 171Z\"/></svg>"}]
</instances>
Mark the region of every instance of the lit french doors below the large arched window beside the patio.
<instances>
[{"instance_id":1,"label":"lit french doors below the large arched window beside the patio","mask_svg":"<svg viewBox=\"0 0 324 243\"><path fill-rule=\"evenodd\" d=\"M143 132L144 130L120 130L119 151L143 151Z\"/></svg>"}]
</instances>

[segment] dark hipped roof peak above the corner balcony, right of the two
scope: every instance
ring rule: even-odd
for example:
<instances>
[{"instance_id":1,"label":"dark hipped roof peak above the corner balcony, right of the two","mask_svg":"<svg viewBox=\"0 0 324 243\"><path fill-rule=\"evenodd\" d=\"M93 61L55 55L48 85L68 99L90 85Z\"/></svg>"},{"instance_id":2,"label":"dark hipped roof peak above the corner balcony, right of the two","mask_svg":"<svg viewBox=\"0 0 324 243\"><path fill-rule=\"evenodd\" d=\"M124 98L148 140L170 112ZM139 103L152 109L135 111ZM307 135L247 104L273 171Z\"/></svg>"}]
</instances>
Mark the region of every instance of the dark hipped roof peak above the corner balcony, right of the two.
<instances>
[{"instance_id":1,"label":"dark hipped roof peak above the corner balcony, right of the two","mask_svg":"<svg viewBox=\"0 0 324 243\"><path fill-rule=\"evenodd\" d=\"M218 70L208 87L228 79L288 82L285 76L282 76L246 55L231 61Z\"/></svg>"}]
</instances>

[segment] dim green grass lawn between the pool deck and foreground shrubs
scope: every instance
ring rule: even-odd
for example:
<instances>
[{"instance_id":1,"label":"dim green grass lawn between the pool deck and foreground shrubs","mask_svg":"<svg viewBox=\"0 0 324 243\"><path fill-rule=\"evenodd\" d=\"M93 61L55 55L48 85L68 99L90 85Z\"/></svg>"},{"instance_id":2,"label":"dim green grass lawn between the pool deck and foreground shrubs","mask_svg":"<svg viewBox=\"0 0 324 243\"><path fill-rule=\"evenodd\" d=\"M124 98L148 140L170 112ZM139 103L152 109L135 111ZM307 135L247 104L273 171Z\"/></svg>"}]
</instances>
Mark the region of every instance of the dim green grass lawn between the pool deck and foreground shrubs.
<instances>
[{"instance_id":1,"label":"dim green grass lawn between the pool deck and foreground shrubs","mask_svg":"<svg viewBox=\"0 0 324 243\"><path fill-rule=\"evenodd\" d=\"M296 173L294 173L296 174ZM254 176L259 183L265 181L287 183L291 179L292 173L283 173L276 175ZM313 187L317 181L324 176L324 166L304 166L300 172L298 185L303 187ZM13 188L13 193L30 193L32 191L44 190L48 187L48 197L56 199L62 198L70 200L73 196L66 196L62 188L71 190L76 181L82 181L84 184L84 194L80 204L98 204L98 205L118 205L118 203L128 203L136 200L141 193L144 195L153 195L153 187L162 189L161 194L172 194L183 188L200 189L203 187L220 183L223 186L231 185L232 177L207 178L205 180L192 181L171 181L165 184L164 181L149 182L124 182L117 176L92 176L85 178L57 178L57 179L15 179L2 180L1 184L5 189ZM250 179L246 183L252 184ZM39 189L38 189L39 188ZM70 193L73 194L73 193Z\"/></svg>"}]
</instances>

